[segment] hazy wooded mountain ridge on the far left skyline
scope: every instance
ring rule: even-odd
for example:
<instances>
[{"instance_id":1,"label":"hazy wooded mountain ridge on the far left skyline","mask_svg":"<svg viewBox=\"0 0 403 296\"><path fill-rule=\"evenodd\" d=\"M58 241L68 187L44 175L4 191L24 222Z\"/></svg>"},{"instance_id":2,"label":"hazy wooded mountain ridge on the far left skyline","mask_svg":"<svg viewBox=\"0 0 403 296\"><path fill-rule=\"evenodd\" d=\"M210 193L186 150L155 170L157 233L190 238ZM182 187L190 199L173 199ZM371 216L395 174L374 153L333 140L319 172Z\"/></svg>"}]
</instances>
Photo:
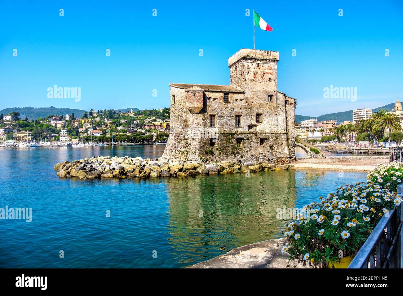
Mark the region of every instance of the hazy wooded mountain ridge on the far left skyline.
<instances>
[{"instance_id":1,"label":"hazy wooded mountain ridge on the far left skyline","mask_svg":"<svg viewBox=\"0 0 403 296\"><path fill-rule=\"evenodd\" d=\"M50 107L45 107L45 108L36 108L36 107L15 107L15 108L5 108L3 110L0 110L0 113L6 115L11 112L19 112L20 117L22 119L25 118L25 116L28 117L28 119L37 119L37 118L46 118L49 115L66 115L66 114L72 114L74 113L75 117L81 117L83 116L85 110L80 110L80 109L70 109L70 108L56 108L53 106Z\"/></svg>"}]
</instances>

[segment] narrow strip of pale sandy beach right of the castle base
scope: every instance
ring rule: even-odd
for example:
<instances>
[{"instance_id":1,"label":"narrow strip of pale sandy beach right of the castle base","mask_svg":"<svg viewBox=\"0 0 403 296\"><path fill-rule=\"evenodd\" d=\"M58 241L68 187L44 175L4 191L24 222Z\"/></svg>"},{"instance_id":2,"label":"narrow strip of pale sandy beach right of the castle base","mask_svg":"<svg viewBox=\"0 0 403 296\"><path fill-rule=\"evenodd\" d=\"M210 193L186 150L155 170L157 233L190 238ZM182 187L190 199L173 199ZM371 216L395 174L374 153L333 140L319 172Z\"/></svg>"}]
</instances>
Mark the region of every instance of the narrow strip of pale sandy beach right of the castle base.
<instances>
[{"instance_id":1,"label":"narrow strip of pale sandy beach right of the castle base","mask_svg":"<svg viewBox=\"0 0 403 296\"><path fill-rule=\"evenodd\" d=\"M327 158L300 158L291 163L291 168L314 168L326 170L345 170L369 172L379 164L389 162L388 155L382 156L345 156Z\"/></svg>"}]
</instances>

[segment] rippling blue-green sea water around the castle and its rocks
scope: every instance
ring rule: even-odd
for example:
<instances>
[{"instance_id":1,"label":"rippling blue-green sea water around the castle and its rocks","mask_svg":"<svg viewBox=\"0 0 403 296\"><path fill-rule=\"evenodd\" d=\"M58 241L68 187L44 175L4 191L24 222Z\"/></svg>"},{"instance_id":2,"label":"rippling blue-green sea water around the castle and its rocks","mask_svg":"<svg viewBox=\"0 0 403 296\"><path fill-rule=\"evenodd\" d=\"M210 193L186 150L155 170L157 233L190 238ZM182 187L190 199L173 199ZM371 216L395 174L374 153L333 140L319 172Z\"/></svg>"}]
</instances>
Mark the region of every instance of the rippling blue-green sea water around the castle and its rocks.
<instances>
[{"instance_id":1,"label":"rippling blue-green sea water around the castle and its rocks","mask_svg":"<svg viewBox=\"0 0 403 296\"><path fill-rule=\"evenodd\" d=\"M31 223L0 219L0 267L187 267L224 254L222 245L230 250L278 237L277 208L302 207L366 179L359 172L289 170L78 180L58 178L53 170L66 159L157 158L163 149L0 148L0 208L32 208Z\"/></svg>"}]
</instances>

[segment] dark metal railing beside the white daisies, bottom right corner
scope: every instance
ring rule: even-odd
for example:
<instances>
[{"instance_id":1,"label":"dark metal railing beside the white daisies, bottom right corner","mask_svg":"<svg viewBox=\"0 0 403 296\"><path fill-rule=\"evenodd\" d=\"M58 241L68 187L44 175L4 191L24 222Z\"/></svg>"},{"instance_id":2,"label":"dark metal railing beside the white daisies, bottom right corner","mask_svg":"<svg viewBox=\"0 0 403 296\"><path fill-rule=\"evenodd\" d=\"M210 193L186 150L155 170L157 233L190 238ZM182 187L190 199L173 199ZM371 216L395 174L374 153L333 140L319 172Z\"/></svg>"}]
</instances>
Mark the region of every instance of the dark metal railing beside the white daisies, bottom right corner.
<instances>
[{"instance_id":1,"label":"dark metal railing beside the white daisies, bottom right corner","mask_svg":"<svg viewBox=\"0 0 403 296\"><path fill-rule=\"evenodd\" d=\"M397 192L403 194L403 184L397 186ZM402 214L399 205L384 215L348 268L401 268Z\"/></svg>"}]
</instances>

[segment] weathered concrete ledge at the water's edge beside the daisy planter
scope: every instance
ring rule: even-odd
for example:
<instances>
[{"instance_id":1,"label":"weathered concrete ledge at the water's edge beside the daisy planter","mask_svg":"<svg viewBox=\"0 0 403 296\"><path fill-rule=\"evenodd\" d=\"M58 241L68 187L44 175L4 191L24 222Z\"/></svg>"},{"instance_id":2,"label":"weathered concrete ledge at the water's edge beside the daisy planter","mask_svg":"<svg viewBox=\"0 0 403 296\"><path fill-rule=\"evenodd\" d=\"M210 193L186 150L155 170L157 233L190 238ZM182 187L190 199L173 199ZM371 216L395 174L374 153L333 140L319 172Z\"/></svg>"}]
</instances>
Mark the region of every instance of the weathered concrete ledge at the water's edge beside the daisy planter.
<instances>
[{"instance_id":1,"label":"weathered concrete ledge at the water's edge beside the daisy planter","mask_svg":"<svg viewBox=\"0 0 403 296\"><path fill-rule=\"evenodd\" d=\"M285 241L285 238L279 238L248 244L188 268L286 268L288 254L281 253ZM291 268L309 267L292 263Z\"/></svg>"}]
</instances>

